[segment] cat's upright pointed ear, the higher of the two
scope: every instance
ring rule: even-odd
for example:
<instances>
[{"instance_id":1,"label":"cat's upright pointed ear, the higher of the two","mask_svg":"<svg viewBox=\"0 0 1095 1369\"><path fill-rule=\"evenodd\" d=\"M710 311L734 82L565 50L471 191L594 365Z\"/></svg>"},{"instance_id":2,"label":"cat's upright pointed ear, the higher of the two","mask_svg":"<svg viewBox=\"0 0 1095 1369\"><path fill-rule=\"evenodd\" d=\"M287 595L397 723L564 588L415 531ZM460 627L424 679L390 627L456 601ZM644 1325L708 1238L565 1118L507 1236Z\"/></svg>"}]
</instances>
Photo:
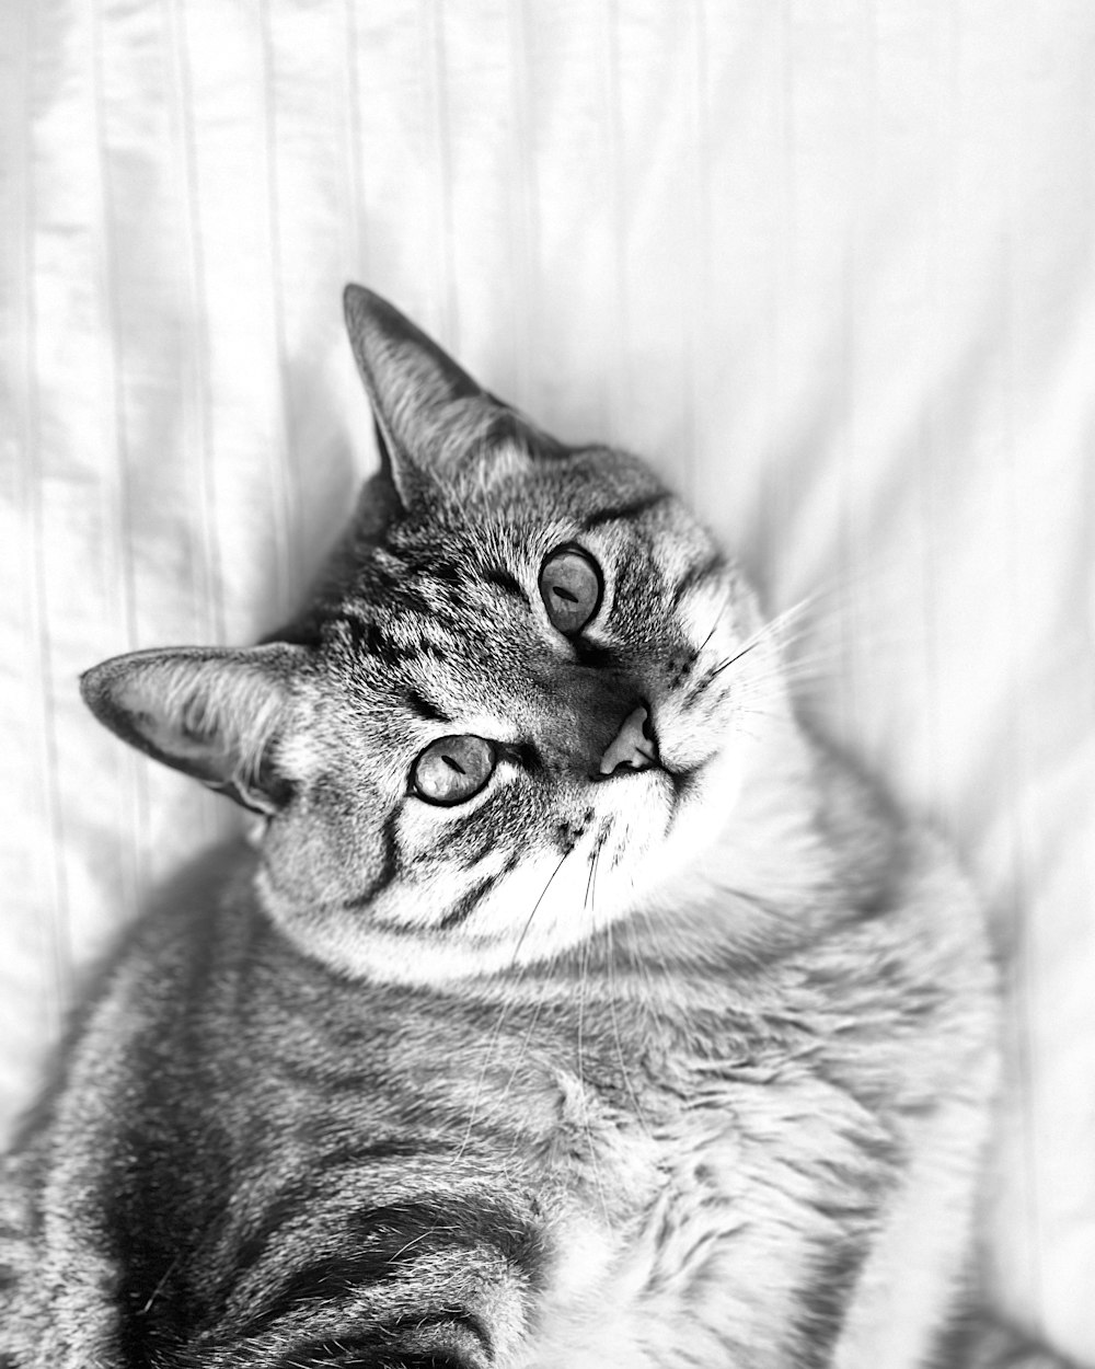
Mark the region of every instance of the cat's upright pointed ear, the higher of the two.
<instances>
[{"instance_id":1,"label":"cat's upright pointed ear, the higher of the two","mask_svg":"<svg viewBox=\"0 0 1095 1369\"><path fill-rule=\"evenodd\" d=\"M445 479L450 460L468 450L483 455L504 438L530 456L563 455L561 444L487 393L387 300L348 285L342 301L376 420L383 475L402 508L415 504L431 478ZM390 509L382 509L386 516Z\"/></svg>"}]
</instances>

